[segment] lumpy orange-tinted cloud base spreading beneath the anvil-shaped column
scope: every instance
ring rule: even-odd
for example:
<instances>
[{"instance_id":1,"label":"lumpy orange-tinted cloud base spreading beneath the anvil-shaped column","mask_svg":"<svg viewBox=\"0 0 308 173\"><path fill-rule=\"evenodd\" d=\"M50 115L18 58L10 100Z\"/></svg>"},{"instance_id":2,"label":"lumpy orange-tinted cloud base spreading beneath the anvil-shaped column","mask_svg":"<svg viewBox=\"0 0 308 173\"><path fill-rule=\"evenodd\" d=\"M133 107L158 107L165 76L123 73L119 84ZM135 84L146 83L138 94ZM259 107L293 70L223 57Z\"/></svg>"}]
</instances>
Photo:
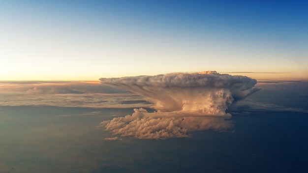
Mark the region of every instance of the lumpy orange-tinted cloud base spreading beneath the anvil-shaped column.
<instances>
[{"instance_id":1,"label":"lumpy orange-tinted cloud base spreading beneath the anvil-shaped column","mask_svg":"<svg viewBox=\"0 0 308 173\"><path fill-rule=\"evenodd\" d=\"M231 115L185 116L179 113L148 113L143 108L134 111L132 115L115 117L101 122L100 125L113 135L138 139L182 138L188 137L191 131L208 129L224 131L233 127L228 120Z\"/></svg>"}]
</instances>

